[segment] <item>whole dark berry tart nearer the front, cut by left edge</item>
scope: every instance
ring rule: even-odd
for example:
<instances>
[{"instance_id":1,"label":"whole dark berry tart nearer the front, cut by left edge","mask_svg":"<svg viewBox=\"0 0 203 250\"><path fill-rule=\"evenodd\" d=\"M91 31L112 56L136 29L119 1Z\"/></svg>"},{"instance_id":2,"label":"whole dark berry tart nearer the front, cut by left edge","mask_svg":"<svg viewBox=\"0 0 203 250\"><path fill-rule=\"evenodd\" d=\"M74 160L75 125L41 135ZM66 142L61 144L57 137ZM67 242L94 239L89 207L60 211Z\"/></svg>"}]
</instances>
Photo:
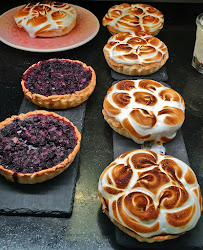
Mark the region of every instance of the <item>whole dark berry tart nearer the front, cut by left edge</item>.
<instances>
[{"instance_id":1,"label":"whole dark berry tart nearer the front, cut by left edge","mask_svg":"<svg viewBox=\"0 0 203 250\"><path fill-rule=\"evenodd\" d=\"M0 123L0 174L35 184L62 173L80 148L81 135L65 117L36 110Z\"/></svg>"}]
</instances>

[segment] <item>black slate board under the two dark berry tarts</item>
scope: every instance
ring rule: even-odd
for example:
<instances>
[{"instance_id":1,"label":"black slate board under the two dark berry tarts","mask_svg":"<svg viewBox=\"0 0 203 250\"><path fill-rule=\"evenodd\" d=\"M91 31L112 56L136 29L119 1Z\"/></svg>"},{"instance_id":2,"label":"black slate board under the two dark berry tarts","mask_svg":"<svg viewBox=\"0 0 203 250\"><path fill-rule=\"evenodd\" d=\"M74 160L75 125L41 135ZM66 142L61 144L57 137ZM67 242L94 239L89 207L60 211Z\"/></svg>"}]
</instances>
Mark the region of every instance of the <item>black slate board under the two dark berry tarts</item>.
<instances>
[{"instance_id":1,"label":"black slate board under the two dark berry tarts","mask_svg":"<svg viewBox=\"0 0 203 250\"><path fill-rule=\"evenodd\" d=\"M26 98L20 113L43 109ZM68 110L47 110L68 118L78 128L83 128L86 103ZM0 177L0 214L69 217L73 209L79 152L72 164L59 176L44 183L22 185L9 183Z\"/></svg>"}]
</instances>

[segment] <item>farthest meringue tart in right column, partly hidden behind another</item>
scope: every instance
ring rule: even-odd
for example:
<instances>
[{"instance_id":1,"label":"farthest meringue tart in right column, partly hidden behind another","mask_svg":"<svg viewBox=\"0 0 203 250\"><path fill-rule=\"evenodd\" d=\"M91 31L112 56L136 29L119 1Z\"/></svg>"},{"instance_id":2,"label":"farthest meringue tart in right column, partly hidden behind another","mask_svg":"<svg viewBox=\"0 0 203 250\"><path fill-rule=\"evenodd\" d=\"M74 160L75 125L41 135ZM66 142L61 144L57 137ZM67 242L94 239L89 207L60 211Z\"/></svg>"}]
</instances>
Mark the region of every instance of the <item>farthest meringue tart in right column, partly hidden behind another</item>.
<instances>
[{"instance_id":1,"label":"farthest meringue tart in right column, partly hidden behind another","mask_svg":"<svg viewBox=\"0 0 203 250\"><path fill-rule=\"evenodd\" d=\"M120 32L145 31L156 36L164 25L164 16L148 4L123 3L111 7L102 24L115 35Z\"/></svg>"}]
</instances>

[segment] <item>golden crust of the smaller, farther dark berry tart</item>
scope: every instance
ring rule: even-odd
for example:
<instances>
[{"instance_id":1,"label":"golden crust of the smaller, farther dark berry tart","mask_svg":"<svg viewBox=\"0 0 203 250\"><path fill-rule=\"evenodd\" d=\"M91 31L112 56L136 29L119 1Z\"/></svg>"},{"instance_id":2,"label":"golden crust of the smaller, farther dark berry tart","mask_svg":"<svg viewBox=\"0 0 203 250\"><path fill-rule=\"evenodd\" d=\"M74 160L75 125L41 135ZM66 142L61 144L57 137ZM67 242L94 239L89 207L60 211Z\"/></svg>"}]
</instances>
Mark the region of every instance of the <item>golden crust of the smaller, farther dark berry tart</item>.
<instances>
[{"instance_id":1,"label":"golden crust of the smaller, farther dark berry tart","mask_svg":"<svg viewBox=\"0 0 203 250\"><path fill-rule=\"evenodd\" d=\"M50 59L50 61L51 60L54 60L54 59ZM24 95L28 100L30 100L35 105L48 108L48 109L67 109L71 107L76 107L82 104L83 102L85 102L94 91L94 88L96 85L96 74L91 66L87 66L85 63L78 61L78 60L70 60L70 59L60 59L60 60L72 62L72 63L80 63L82 64L84 69L90 70L92 73L92 77L88 86L80 91L76 91L73 94L44 96L41 94L31 93L29 89L26 88L26 85L25 85L26 83L24 79L22 79L21 85L22 85ZM30 66L23 75L26 75L26 73L31 68L34 68L39 63L40 62Z\"/></svg>"}]
</instances>

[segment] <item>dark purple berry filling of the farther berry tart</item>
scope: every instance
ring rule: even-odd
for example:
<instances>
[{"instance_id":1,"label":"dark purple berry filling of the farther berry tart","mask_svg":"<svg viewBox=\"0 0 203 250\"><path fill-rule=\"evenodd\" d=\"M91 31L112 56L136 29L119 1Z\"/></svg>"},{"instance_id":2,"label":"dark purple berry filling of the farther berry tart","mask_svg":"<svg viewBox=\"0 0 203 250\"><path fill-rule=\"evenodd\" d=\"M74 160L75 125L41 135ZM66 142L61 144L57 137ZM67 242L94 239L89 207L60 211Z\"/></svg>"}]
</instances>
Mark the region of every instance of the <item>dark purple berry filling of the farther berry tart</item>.
<instances>
[{"instance_id":1,"label":"dark purple berry filling of the farther berry tart","mask_svg":"<svg viewBox=\"0 0 203 250\"><path fill-rule=\"evenodd\" d=\"M31 93L44 96L73 94L86 88L91 78L91 70L81 63L60 59L42 61L23 76Z\"/></svg>"}]
</instances>

